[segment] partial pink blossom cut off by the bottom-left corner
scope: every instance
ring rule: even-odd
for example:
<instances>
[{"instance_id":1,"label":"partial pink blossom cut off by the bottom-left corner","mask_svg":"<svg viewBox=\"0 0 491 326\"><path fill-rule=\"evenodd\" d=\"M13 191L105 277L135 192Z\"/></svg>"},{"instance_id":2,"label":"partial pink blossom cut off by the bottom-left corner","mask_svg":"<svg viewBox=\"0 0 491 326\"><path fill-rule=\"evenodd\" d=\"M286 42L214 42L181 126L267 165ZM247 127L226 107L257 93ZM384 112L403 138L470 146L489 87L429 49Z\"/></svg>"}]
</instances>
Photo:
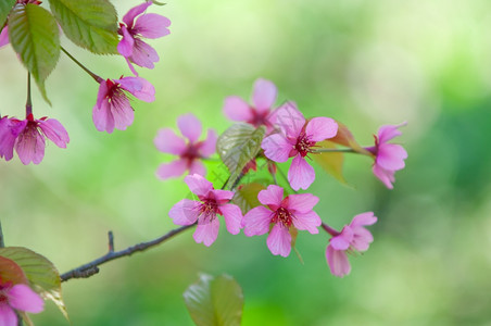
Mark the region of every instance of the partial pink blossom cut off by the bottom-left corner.
<instances>
[{"instance_id":1,"label":"partial pink blossom cut off by the bottom-left corner","mask_svg":"<svg viewBox=\"0 0 491 326\"><path fill-rule=\"evenodd\" d=\"M3 283L0 278L0 325L17 326L17 316L14 310L37 314L43 309L45 301L28 286Z\"/></svg>"}]
</instances>

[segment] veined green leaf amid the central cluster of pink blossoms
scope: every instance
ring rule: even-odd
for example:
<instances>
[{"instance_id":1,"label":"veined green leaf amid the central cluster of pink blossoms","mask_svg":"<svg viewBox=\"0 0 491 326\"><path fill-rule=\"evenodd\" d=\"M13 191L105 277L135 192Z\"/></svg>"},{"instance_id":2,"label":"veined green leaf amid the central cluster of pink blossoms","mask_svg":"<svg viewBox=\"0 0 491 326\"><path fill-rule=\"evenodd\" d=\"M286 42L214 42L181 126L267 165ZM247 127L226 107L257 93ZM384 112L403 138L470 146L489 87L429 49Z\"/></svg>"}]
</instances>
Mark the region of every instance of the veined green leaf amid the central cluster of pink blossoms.
<instances>
[{"instance_id":1,"label":"veined green leaf amid the central cluster of pink blossoms","mask_svg":"<svg viewBox=\"0 0 491 326\"><path fill-rule=\"evenodd\" d=\"M230 172L228 185L235 185L243 167L261 150L266 128L254 128L249 124L235 124L218 137L216 149Z\"/></svg>"}]
</instances>

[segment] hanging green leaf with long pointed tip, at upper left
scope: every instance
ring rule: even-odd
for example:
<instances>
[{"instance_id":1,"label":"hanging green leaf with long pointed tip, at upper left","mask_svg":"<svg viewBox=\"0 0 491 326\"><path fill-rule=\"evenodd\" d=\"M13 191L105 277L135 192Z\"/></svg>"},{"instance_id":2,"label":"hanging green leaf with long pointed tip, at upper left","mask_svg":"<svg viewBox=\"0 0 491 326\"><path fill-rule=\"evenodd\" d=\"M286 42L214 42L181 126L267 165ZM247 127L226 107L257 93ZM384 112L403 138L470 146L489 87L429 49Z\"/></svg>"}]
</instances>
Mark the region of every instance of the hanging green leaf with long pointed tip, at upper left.
<instances>
[{"instance_id":1,"label":"hanging green leaf with long pointed tip, at upper left","mask_svg":"<svg viewBox=\"0 0 491 326\"><path fill-rule=\"evenodd\" d=\"M56 21L39 5L17 4L9 16L9 38L49 103L45 80L60 58Z\"/></svg>"}]
</instances>

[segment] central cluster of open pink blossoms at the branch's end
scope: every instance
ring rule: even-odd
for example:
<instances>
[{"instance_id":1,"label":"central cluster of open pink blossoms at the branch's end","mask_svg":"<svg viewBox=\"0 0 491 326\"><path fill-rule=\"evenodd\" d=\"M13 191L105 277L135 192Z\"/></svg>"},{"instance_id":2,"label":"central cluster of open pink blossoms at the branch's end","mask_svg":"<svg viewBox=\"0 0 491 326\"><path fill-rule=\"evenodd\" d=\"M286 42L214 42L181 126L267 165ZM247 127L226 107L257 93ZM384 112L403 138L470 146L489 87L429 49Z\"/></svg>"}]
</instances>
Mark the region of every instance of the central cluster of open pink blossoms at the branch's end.
<instances>
[{"instance_id":1,"label":"central cluster of open pink blossoms at the branch's end","mask_svg":"<svg viewBox=\"0 0 491 326\"><path fill-rule=\"evenodd\" d=\"M256 158L251 158L251 162L259 158L265 159L272 183L257 192L257 201L261 204L249 211L242 211L234 202L236 189L215 189L213 184L205 179L206 171L200 160L207 159L215 150L217 138L213 130L209 130L205 140L198 141L202 130L201 123L192 114L186 114L178 118L178 127L186 139L176 136L169 128L159 131L154 139L156 148L178 158L162 164L156 175L166 179L180 176L187 171L188 175L184 180L197 197L196 200L179 201L168 215L177 225L197 224L193 238L205 246L211 246L216 240L219 229L217 216L222 215L227 230L232 235L239 234L242 228L248 237L268 234L267 248L273 254L281 256L290 254L297 230L307 230L314 235L318 234L318 228L322 227L330 236L325 251L327 263L333 275L342 277L351 271L347 254L366 251L374 240L365 226L376 223L377 217L373 212L358 214L341 231L337 231L324 223L314 211L319 198L312 193L298 193L298 190L306 190L315 181L310 159L323 152L324 141L331 140L350 149L349 143L354 139L347 141L345 129L340 130L340 124L333 118L305 118L293 102L274 108L276 97L276 86L260 78L253 86L252 104L236 96L225 99L224 113L228 118L256 128L264 126L266 129L261 143L262 151ZM374 146L353 146L350 149L374 160L374 175L389 189L393 188L394 174L404 167L404 160L407 158L402 146L389 143L401 135L399 127L405 124L382 126L377 136L374 136ZM329 151L336 152L332 149ZM291 193L288 195L286 188L277 185L275 174L276 164L287 162L290 158L292 161L286 181ZM248 164L242 176L255 168L255 163Z\"/></svg>"}]
</instances>

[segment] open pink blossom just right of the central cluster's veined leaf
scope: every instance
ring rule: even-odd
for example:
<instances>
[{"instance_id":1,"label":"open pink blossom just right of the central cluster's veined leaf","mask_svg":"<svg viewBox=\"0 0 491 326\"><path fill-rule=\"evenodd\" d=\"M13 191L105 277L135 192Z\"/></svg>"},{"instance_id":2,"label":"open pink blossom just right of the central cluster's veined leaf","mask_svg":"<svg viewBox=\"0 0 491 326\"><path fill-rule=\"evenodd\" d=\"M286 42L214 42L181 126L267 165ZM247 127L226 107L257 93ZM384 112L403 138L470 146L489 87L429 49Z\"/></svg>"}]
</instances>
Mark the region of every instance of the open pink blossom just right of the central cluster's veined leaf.
<instances>
[{"instance_id":1,"label":"open pink blossom just right of the central cluster's veined leaf","mask_svg":"<svg viewBox=\"0 0 491 326\"><path fill-rule=\"evenodd\" d=\"M307 189L315 179L314 167L305 156L318 141L332 138L338 133L338 124L330 117L314 117L307 123L294 103L286 103L274 112L273 121L279 133L264 138L261 147L272 161L286 162L293 158L288 180L294 190Z\"/></svg>"}]
</instances>

